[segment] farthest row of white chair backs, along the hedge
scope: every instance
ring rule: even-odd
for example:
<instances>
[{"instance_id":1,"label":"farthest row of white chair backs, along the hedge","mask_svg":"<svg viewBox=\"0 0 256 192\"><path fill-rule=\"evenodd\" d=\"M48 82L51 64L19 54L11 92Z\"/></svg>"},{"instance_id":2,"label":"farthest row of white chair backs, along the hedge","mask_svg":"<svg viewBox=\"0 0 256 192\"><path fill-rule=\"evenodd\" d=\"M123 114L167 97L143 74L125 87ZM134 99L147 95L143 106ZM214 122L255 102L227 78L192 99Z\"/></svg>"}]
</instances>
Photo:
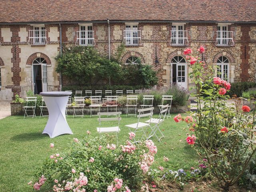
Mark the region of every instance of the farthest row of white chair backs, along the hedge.
<instances>
[{"instance_id":1,"label":"farthest row of white chair backs, along the hedge","mask_svg":"<svg viewBox=\"0 0 256 192\"><path fill-rule=\"evenodd\" d=\"M66 92L72 92L71 90L68 90ZM122 97L124 92L123 90L116 90L116 96ZM126 90L126 95L132 95L132 94L140 94L142 90ZM114 94L114 91L112 90L105 90L105 96L112 96L112 93ZM85 90L84 91L85 98L90 98L92 96L92 91L91 90ZM82 96L82 91L76 91L75 92L75 97L77 96ZM95 90L95 96L102 96L102 90Z\"/></svg>"}]
</instances>

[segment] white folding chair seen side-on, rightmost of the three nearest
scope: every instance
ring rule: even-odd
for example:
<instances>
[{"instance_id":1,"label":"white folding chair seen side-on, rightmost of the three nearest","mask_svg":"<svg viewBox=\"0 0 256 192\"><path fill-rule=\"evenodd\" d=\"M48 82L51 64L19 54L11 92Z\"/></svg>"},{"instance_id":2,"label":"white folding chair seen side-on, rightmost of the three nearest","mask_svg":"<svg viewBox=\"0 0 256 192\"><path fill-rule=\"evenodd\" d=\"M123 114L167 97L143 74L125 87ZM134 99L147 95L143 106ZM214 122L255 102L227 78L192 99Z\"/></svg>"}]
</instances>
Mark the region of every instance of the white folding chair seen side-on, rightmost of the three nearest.
<instances>
[{"instance_id":1,"label":"white folding chair seen side-on, rightmost of the three nearest","mask_svg":"<svg viewBox=\"0 0 256 192\"><path fill-rule=\"evenodd\" d=\"M160 109L160 114L159 114L159 118L152 118L151 120L147 120L146 123L151 123L154 124L154 126L150 126L151 128L151 133L149 134L148 138L151 138L152 136L156 136L156 138L158 139L158 141L160 142L162 138L164 138L164 134L162 133L162 131L160 130L160 125L162 124L162 122L164 122L164 119L166 117L166 112L168 111L168 104L164 105L161 107ZM156 134L156 132L160 133L160 137L158 137L158 135Z\"/></svg>"}]
</instances>

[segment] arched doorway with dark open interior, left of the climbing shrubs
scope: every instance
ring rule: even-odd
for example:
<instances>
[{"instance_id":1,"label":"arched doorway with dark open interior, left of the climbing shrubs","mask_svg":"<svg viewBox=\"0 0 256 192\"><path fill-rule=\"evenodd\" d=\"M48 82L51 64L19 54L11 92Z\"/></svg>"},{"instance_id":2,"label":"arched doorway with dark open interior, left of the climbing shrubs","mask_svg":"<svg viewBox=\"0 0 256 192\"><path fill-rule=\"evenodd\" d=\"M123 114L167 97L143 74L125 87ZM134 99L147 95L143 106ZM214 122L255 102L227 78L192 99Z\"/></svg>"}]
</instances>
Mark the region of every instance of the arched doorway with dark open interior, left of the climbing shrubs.
<instances>
[{"instance_id":1,"label":"arched doorway with dark open interior, left of the climbing shrubs","mask_svg":"<svg viewBox=\"0 0 256 192\"><path fill-rule=\"evenodd\" d=\"M33 92L39 94L47 91L47 63L42 57L32 62Z\"/></svg>"}]
</instances>

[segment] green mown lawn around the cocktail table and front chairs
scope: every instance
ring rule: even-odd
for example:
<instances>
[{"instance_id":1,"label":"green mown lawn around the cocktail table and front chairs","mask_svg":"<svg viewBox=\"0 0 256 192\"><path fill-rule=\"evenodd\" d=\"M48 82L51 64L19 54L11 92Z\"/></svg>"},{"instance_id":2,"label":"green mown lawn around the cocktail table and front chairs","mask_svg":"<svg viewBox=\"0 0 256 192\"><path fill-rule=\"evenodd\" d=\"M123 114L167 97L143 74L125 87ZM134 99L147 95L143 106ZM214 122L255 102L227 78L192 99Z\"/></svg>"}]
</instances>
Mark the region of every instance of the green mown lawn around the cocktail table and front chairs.
<instances>
[{"instance_id":1,"label":"green mown lawn around the cocktail table and front chairs","mask_svg":"<svg viewBox=\"0 0 256 192\"><path fill-rule=\"evenodd\" d=\"M172 114L173 116L173 114ZM157 117L157 116L155 116ZM86 130L92 136L97 136L97 118L85 116L84 118L67 117L68 124L74 135L61 135L50 139L47 134L42 134L48 118L25 118L23 116L10 116L0 120L0 191L1 192L26 192L32 191L27 185L38 168L46 158L53 153L61 153L72 143L73 138L84 138ZM137 118L122 115L120 123L121 132L118 135L119 144L128 139L126 124L137 122ZM190 169L197 166L197 156L193 148L186 144L187 131L184 122L175 123L172 118L165 120L161 126L166 138L162 142L155 142L158 153L155 156L156 166L159 164L165 170L179 168ZM50 148L50 143L55 147ZM163 157L169 158L164 162Z\"/></svg>"}]
</instances>

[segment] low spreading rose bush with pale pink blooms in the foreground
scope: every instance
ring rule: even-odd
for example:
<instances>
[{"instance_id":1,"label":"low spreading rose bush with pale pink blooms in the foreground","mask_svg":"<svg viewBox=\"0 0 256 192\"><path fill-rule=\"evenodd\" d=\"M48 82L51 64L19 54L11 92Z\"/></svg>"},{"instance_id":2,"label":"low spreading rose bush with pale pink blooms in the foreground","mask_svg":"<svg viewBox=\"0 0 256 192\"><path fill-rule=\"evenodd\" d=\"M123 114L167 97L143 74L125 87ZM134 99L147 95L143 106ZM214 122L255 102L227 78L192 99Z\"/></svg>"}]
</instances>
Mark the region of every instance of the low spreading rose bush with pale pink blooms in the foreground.
<instances>
[{"instance_id":1,"label":"low spreading rose bush with pale pink blooms in the foreground","mask_svg":"<svg viewBox=\"0 0 256 192\"><path fill-rule=\"evenodd\" d=\"M133 138L135 134L128 136ZM55 192L130 192L140 188L154 163L154 142L146 140L135 146L126 141L116 146L111 144L112 140L108 135L91 134L84 140L74 138L70 149L48 157L28 184L34 190Z\"/></svg>"}]
</instances>

